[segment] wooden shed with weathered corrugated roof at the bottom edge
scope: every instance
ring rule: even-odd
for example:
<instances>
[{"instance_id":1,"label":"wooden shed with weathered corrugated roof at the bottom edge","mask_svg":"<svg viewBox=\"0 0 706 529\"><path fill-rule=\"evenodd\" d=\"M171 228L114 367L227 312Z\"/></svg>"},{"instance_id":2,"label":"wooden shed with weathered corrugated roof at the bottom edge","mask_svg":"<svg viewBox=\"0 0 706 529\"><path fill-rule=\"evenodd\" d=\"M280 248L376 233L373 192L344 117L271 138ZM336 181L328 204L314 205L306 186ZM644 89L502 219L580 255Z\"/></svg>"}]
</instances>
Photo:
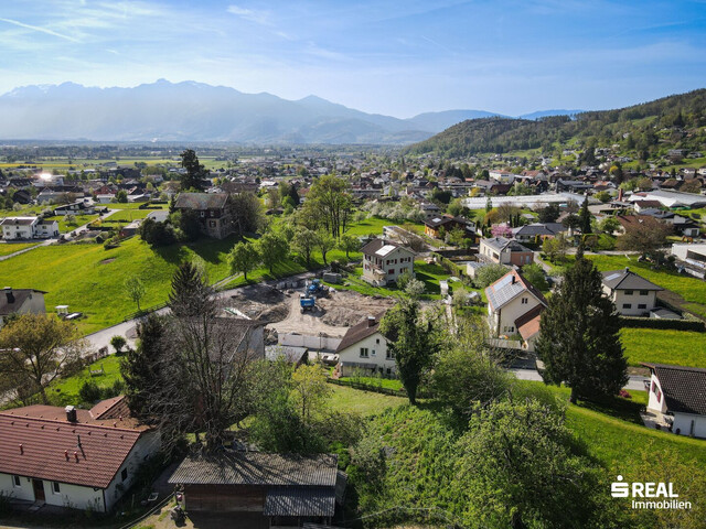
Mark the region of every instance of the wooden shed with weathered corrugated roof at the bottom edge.
<instances>
[{"instance_id":1,"label":"wooden shed with weathered corrugated roof at the bottom edge","mask_svg":"<svg viewBox=\"0 0 706 529\"><path fill-rule=\"evenodd\" d=\"M182 507L192 520L220 514L233 517L232 527L268 528L331 525L345 479L335 454L222 450L188 456L169 483L183 487Z\"/></svg>"}]
</instances>

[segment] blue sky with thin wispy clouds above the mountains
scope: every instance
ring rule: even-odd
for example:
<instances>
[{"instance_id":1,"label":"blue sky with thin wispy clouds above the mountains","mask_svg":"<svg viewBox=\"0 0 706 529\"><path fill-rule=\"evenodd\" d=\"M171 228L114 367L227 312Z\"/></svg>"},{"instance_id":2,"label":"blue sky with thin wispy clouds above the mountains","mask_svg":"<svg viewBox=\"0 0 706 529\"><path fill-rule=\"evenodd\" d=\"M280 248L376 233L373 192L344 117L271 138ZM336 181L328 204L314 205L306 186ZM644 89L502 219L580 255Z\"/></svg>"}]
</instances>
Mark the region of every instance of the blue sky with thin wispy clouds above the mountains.
<instances>
[{"instance_id":1,"label":"blue sky with thin wispy clouds above the mountains","mask_svg":"<svg viewBox=\"0 0 706 529\"><path fill-rule=\"evenodd\" d=\"M0 0L0 93L158 78L410 117L706 86L706 1Z\"/></svg>"}]
</instances>

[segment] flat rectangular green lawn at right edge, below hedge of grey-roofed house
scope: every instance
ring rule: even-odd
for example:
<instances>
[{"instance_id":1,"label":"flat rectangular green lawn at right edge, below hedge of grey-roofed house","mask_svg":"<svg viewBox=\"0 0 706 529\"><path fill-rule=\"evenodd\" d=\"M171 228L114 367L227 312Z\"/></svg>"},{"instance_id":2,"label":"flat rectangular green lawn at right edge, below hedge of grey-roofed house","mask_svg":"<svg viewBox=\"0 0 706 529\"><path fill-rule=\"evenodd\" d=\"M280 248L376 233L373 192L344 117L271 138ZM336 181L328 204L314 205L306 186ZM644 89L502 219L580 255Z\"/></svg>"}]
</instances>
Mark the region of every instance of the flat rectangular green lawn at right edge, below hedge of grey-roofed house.
<instances>
[{"instance_id":1,"label":"flat rectangular green lawn at right edge, below hedge of grey-roofed house","mask_svg":"<svg viewBox=\"0 0 706 529\"><path fill-rule=\"evenodd\" d=\"M622 345L631 366L641 361L706 366L706 333L656 328L623 328Z\"/></svg>"}]
</instances>

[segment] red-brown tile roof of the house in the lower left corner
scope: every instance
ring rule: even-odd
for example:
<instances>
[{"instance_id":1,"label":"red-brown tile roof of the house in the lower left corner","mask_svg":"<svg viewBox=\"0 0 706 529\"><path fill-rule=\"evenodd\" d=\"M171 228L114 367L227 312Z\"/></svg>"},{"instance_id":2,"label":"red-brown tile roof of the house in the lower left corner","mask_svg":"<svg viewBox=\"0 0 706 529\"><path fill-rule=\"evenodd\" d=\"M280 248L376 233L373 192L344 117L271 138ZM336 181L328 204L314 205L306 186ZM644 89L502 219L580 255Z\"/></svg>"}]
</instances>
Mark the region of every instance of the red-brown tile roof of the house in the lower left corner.
<instances>
[{"instance_id":1,"label":"red-brown tile roof of the house in the lower left corner","mask_svg":"<svg viewBox=\"0 0 706 529\"><path fill-rule=\"evenodd\" d=\"M77 422L51 406L0 412L0 472L106 488L147 428L76 411Z\"/></svg>"}]
</instances>

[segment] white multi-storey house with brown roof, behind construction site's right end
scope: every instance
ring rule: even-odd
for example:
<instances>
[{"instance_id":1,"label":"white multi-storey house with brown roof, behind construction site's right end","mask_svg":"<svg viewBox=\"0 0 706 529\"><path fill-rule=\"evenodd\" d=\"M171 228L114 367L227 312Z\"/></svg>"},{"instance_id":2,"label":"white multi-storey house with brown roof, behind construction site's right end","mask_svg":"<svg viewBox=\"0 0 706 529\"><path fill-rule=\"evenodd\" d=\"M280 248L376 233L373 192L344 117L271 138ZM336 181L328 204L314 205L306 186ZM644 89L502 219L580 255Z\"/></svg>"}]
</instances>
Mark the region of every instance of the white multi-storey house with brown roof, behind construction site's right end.
<instances>
[{"instance_id":1,"label":"white multi-storey house with brown roof, behind construction site's right end","mask_svg":"<svg viewBox=\"0 0 706 529\"><path fill-rule=\"evenodd\" d=\"M397 278L415 271L415 252L393 240L373 239L363 252L363 279L376 287L394 283Z\"/></svg>"}]
</instances>

